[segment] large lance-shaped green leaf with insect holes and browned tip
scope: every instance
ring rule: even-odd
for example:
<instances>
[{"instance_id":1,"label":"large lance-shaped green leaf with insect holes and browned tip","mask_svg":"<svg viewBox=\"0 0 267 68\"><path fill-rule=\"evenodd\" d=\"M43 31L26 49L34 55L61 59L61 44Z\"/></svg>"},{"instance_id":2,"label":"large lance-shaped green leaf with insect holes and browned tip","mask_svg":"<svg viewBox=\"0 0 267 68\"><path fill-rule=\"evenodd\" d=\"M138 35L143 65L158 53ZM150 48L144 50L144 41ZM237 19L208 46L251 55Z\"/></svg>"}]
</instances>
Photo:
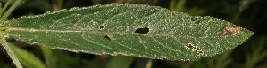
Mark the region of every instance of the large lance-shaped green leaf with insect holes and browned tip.
<instances>
[{"instance_id":1,"label":"large lance-shaped green leaf with insect holes and browned tip","mask_svg":"<svg viewBox=\"0 0 267 68\"><path fill-rule=\"evenodd\" d=\"M7 21L16 40L90 54L168 60L213 57L253 32L212 17L141 4L107 4Z\"/></svg>"}]
</instances>

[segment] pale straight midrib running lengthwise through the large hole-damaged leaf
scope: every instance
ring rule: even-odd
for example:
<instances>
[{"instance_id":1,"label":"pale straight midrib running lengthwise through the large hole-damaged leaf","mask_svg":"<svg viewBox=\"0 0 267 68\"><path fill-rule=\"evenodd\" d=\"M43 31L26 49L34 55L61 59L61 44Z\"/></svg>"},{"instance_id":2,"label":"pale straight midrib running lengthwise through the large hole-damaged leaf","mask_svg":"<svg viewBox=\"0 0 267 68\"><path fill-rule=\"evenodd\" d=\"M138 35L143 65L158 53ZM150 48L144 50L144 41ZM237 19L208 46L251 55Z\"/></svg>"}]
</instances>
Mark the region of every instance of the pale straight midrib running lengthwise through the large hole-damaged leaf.
<instances>
[{"instance_id":1,"label":"pale straight midrib running lengthwise through the large hole-damaged leaf","mask_svg":"<svg viewBox=\"0 0 267 68\"><path fill-rule=\"evenodd\" d=\"M213 37L227 37L232 35L201 35L201 36L192 36L192 35L170 35L170 34L138 34L138 33L125 33L125 32L104 32L102 30L96 31L82 31L82 30L51 30L51 29L34 29L34 28L17 28L10 27L5 31L21 31L21 32L46 32L46 33L85 33L85 34L134 34L134 35L145 35L145 36L165 36L165 37L175 37L175 38L213 38ZM240 34L241 35L241 34Z\"/></svg>"}]
</instances>

